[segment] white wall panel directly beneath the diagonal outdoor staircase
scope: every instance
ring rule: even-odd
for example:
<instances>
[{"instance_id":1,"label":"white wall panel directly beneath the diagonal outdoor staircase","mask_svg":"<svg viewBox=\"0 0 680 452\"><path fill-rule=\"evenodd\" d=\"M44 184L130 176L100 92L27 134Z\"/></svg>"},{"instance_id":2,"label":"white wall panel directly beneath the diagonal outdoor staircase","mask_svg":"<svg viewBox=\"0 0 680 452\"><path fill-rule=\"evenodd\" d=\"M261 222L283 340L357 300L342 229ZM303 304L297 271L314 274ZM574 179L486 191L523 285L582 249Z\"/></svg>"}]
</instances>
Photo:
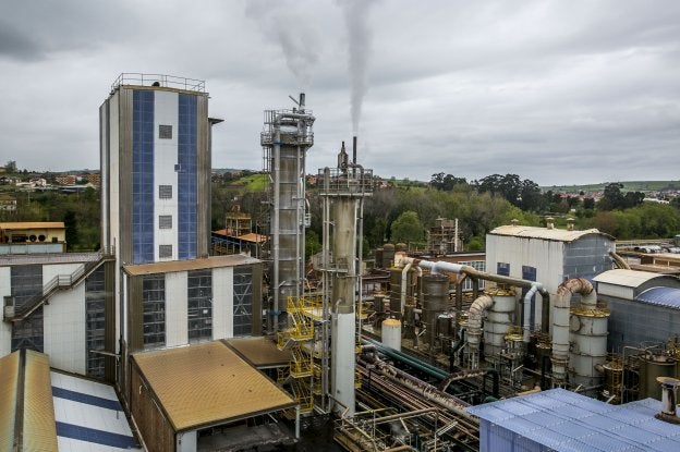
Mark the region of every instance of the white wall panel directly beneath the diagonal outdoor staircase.
<instances>
[{"instance_id":1,"label":"white wall panel directly beneath the diagonal outdoor staircase","mask_svg":"<svg viewBox=\"0 0 680 452\"><path fill-rule=\"evenodd\" d=\"M45 270L47 267L44 267ZM50 355L50 366L85 374L85 283L57 292L44 306L42 313L44 350Z\"/></svg>"}]
</instances>

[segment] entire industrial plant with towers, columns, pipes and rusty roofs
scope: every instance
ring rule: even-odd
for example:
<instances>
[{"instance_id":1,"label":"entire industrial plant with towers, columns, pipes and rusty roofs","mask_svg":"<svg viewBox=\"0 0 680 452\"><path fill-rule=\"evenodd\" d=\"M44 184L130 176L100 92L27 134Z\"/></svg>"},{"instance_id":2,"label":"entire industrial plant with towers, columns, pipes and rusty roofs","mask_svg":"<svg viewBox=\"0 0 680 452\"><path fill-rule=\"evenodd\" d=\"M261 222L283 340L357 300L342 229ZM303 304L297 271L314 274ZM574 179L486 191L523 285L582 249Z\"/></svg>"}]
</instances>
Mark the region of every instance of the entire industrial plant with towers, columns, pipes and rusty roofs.
<instances>
[{"instance_id":1,"label":"entire industrial plant with towers, columns, pipes and rusty roofs","mask_svg":"<svg viewBox=\"0 0 680 452\"><path fill-rule=\"evenodd\" d=\"M374 170L356 136L306 168L324 119L304 94L264 111L263 211L210 231L208 101L203 81L116 80L99 252L0 223L0 450L680 450L676 276L552 219L481 253L445 218L425 251L364 249Z\"/></svg>"}]
</instances>

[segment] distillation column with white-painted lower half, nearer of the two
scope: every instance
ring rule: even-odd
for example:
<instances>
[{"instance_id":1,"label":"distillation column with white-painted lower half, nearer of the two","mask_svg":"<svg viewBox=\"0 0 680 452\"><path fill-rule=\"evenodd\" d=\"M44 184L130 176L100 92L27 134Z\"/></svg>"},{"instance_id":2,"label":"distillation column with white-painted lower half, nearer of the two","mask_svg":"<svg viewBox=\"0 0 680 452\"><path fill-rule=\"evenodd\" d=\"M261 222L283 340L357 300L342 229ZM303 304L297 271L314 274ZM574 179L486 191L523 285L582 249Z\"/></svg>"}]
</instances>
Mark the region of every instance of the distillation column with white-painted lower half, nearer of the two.
<instances>
[{"instance_id":1,"label":"distillation column with white-painted lower half, nearer of the two","mask_svg":"<svg viewBox=\"0 0 680 452\"><path fill-rule=\"evenodd\" d=\"M364 198L373 191L373 173L356 164L355 159L348 160L343 143L338 168L319 170L318 180L324 198L324 303L329 305L331 317L330 394L341 405L340 413L353 415L362 215Z\"/></svg>"}]
</instances>

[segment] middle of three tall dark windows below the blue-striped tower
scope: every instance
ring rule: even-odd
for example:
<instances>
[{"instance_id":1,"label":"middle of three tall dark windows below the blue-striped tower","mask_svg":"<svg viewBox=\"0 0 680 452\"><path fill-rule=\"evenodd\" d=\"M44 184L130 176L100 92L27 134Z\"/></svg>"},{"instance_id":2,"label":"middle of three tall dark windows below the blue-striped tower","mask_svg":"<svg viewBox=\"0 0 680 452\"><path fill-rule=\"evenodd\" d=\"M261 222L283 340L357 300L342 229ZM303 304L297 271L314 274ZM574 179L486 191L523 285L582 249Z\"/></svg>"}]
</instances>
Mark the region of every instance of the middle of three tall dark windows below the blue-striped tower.
<instances>
[{"instance_id":1,"label":"middle of three tall dark windows below the blue-striped tower","mask_svg":"<svg viewBox=\"0 0 680 452\"><path fill-rule=\"evenodd\" d=\"M186 278L189 342L212 339L212 271L194 270Z\"/></svg>"}]
</instances>

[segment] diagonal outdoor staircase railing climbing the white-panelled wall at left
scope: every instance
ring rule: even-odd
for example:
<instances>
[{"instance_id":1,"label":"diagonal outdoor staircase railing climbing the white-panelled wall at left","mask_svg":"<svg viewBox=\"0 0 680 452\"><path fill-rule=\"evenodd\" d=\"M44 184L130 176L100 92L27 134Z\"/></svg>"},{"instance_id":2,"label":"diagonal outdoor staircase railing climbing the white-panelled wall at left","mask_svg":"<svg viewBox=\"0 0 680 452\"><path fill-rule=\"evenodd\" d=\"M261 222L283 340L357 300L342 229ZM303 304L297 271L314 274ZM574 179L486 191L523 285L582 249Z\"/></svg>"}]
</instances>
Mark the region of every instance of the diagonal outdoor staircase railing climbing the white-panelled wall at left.
<instances>
[{"instance_id":1,"label":"diagonal outdoor staircase railing climbing the white-panelled wall at left","mask_svg":"<svg viewBox=\"0 0 680 452\"><path fill-rule=\"evenodd\" d=\"M94 270L96 270L102 262L107 260L116 259L116 256L109 249L102 249L97 254L97 259L89 260L83 265L83 267L78 267L71 274L58 274L47 284L42 286L42 291L37 293L36 295L28 298L28 301L21 307L16 308L14 306L14 311L8 311L7 306L4 309L4 320L5 321L19 321L24 320L31 314L33 314L37 308L42 306L50 296L54 294L54 292L59 290L65 290L73 288L85 278L87 278Z\"/></svg>"}]
</instances>

